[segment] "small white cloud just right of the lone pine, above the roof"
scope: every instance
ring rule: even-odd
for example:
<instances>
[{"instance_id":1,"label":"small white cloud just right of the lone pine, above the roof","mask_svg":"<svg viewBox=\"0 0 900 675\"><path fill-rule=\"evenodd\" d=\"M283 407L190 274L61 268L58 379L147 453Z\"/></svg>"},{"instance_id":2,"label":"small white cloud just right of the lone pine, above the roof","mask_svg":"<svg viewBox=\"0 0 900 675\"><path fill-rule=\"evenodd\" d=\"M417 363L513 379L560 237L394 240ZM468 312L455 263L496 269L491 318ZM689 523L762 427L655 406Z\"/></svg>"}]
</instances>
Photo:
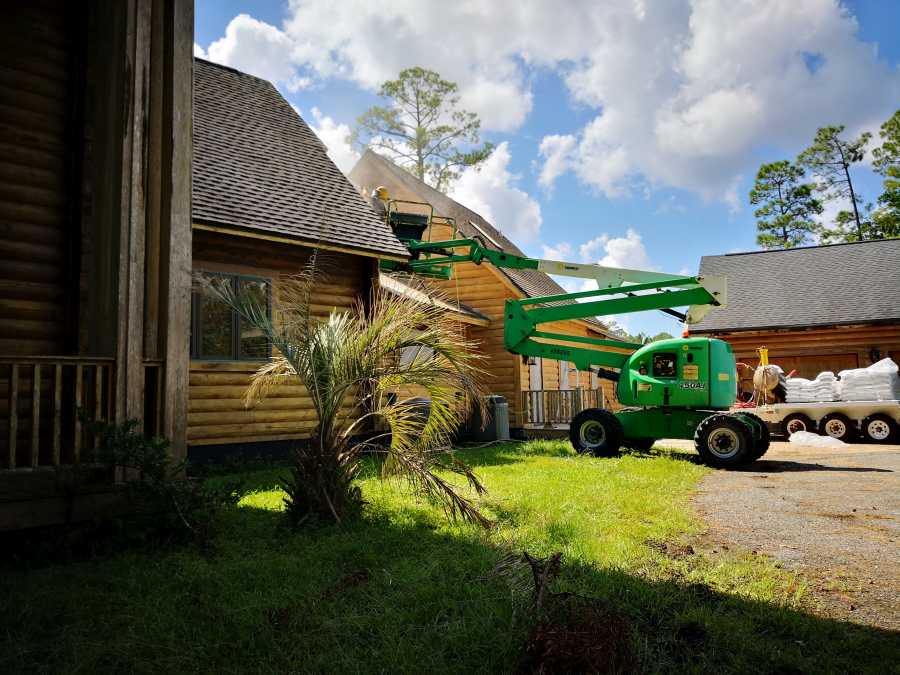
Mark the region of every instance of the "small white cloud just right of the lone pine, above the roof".
<instances>
[{"instance_id":1,"label":"small white cloud just right of the lone pine, above the roof","mask_svg":"<svg viewBox=\"0 0 900 675\"><path fill-rule=\"evenodd\" d=\"M518 244L537 238L541 205L517 187L519 177L509 171L509 144L501 143L477 168L465 169L449 196L480 214Z\"/></svg>"}]
</instances>

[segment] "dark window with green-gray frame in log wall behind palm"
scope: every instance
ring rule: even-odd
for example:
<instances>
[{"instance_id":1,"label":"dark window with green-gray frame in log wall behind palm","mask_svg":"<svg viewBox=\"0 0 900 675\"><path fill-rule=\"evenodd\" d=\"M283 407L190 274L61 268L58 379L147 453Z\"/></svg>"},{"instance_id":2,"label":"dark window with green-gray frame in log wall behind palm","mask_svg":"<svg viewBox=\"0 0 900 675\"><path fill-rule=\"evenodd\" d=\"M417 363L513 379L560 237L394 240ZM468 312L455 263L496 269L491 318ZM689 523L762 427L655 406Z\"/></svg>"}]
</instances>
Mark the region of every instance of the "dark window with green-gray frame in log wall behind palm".
<instances>
[{"instance_id":1,"label":"dark window with green-gray frame in log wall behind palm","mask_svg":"<svg viewBox=\"0 0 900 675\"><path fill-rule=\"evenodd\" d=\"M264 304L271 313L272 302L268 279L242 274L203 272L209 278L228 283L236 293L243 293ZM228 305L202 290L191 298L191 358L209 361L260 361L269 358L271 346L262 332L247 324Z\"/></svg>"}]
</instances>

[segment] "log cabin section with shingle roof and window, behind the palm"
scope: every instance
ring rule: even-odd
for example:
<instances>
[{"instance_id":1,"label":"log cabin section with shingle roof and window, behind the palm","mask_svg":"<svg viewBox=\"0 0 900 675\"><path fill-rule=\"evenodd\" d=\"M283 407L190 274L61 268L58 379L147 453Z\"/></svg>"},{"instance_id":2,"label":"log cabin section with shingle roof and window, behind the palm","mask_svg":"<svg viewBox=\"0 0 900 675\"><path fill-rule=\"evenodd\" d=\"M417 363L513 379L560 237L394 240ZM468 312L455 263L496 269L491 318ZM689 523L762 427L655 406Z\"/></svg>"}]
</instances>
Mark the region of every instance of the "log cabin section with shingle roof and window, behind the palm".
<instances>
[{"instance_id":1,"label":"log cabin section with shingle roof and window, behind the palm","mask_svg":"<svg viewBox=\"0 0 900 675\"><path fill-rule=\"evenodd\" d=\"M317 251L313 314L349 309L406 247L328 158L268 81L197 60L194 70L193 267L271 303L279 278ZM269 346L227 307L193 293L187 442L192 456L308 438L315 412L299 384L252 407L250 376ZM185 336L187 341L187 336ZM200 450L202 448L202 451Z\"/></svg>"}]
</instances>

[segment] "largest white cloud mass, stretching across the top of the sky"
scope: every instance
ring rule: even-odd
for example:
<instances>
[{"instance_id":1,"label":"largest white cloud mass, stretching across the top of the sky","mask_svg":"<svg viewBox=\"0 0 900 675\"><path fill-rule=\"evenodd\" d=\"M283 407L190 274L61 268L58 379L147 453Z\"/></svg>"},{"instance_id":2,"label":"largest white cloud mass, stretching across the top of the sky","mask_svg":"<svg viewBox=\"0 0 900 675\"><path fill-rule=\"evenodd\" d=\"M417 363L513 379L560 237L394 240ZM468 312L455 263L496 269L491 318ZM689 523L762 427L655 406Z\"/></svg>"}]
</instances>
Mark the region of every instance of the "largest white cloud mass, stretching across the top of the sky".
<instances>
[{"instance_id":1,"label":"largest white cloud mass, stretching across the top of the sky","mask_svg":"<svg viewBox=\"0 0 900 675\"><path fill-rule=\"evenodd\" d=\"M207 52L289 88L376 91L421 65L492 131L518 129L535 73L555 72L594 116L545 136L542 187L572 172L608 197L668 186L732 206L758 150L791 156L825 124L876 127L900 100L900 71L839 0L289 0L279 27L240 15Z\"/></svg>"}]
</instances>

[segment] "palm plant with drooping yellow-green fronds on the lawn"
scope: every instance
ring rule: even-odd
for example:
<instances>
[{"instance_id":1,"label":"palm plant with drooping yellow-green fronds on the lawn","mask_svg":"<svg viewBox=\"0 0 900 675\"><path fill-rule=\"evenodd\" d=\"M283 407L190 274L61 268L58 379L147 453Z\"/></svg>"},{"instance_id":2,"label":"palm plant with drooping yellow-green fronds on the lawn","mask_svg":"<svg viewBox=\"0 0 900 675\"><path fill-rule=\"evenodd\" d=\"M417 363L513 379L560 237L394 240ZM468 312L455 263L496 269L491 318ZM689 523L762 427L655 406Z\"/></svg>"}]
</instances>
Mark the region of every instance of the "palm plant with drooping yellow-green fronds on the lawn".
<instances>
[{"instance_id":1,"label":"palm plant with drooping yellow-green fronds on the lawn","mask_svg":"<svg viewBox=\"0 0 900 675\"><path fill-rule=\"evenodd\" d=\"M476 494L484 493L450 450L467 402L482 400L473 345L436 304L380 288L349 311L315 316L311 298L321 280L313 256L300 274L279 280L270 313L232 285L198 277L204 292L229 305L274 348L272 359L252 376L245 404L297 380L312 399L313 437L295 449L283 485L291 520L296 524L315 514L340 523L358 512L361 459L377 453L382 477L405 479L451 518L488 525L473 501L440 475L460 475ZM411 389L424 392L430 406L403 395Z\"/></svg>"}]
</instances>

